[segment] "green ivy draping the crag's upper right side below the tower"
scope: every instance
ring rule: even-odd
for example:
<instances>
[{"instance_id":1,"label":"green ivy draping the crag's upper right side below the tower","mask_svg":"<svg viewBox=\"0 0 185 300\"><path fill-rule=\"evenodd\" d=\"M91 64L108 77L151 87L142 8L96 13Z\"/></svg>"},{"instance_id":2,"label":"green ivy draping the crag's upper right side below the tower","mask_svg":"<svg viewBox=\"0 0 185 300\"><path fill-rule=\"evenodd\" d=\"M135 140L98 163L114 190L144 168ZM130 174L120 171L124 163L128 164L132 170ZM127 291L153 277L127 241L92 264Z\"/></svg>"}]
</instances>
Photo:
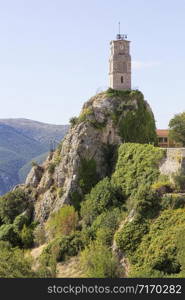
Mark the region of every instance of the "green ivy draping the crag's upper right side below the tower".
<instances>
[{"instance_id":1,"label":"green ivy draping the crag's upper right side below the tower","mask_svg":"<svg viewBox=\"0 0 185 300\"><path fill-rule=\"evenodd\" d=\"M157 143L154 116L140 91L116 91L110 88L107 95L120 100L112 118L119 128L122 141Z\"/></svg>"}]
</instances>

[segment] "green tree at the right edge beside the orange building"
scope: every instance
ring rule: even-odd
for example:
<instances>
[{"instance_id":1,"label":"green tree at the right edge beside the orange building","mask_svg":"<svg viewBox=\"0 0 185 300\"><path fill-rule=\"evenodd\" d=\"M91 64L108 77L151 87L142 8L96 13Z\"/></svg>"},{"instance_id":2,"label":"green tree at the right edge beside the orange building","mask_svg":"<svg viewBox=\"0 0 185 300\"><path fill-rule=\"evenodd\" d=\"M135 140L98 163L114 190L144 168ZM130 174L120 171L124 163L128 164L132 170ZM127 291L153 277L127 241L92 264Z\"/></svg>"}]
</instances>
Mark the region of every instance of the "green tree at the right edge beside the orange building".
<instances>
[{"instance_id":1,"label":"green tree at the right edge beside the orange building","mask_svg":"<svg viewBox=\"0 0 185 300\"><path fill-rule=\"evenodd\" d=\"M170 138L185 146L185 112L176 114L169 122Z\"/></svg>"}]
</instances>

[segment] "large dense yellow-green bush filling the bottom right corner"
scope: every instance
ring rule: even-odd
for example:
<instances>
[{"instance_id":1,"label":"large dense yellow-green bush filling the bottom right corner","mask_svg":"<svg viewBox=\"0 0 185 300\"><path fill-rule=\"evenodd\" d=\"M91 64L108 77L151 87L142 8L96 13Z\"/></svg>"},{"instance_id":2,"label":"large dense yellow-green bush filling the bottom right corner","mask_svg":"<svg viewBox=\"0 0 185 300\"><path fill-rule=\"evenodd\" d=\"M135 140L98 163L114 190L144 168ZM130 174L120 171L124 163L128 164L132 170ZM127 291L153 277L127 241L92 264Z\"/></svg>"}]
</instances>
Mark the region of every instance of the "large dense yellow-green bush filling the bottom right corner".
<instances>
[{"instance_id":1,"label":"large dense yellow-green bush filling the bottom right corner","mask_svg":"<svg viewBox=\"0 0 185 300\"><path fill-rule=\"evenodd\" d=\"M151 224L149 233L133 253L133 276L137 275L139 269L150 272L152 277L156 271L161 272L160 277L184 276L184 216L185 209L165 210Z\"/></svg>"}]
</instances>

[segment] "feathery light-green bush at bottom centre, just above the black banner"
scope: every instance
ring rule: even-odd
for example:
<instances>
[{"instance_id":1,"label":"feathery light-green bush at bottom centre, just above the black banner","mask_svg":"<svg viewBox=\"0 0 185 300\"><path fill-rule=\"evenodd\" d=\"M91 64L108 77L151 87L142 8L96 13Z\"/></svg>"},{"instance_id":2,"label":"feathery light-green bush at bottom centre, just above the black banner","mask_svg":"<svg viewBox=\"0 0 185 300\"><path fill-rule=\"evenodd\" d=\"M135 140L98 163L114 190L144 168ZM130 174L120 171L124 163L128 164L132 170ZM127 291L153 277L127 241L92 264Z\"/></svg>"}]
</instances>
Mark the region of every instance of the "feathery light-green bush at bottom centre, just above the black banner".
<instances>
[{"instance_id":1,"label":"feathery light-green bush at bottom centre, just above the black banner","mask_svg":"<svg viewBox=\"0 0 185 300\"><path fill-rule=\"evenodd\" d=\"M80 265L87 277L119 277L119 264L111 250L100 242L92 242L80 256Z\"/></svg>"}]
</instances>

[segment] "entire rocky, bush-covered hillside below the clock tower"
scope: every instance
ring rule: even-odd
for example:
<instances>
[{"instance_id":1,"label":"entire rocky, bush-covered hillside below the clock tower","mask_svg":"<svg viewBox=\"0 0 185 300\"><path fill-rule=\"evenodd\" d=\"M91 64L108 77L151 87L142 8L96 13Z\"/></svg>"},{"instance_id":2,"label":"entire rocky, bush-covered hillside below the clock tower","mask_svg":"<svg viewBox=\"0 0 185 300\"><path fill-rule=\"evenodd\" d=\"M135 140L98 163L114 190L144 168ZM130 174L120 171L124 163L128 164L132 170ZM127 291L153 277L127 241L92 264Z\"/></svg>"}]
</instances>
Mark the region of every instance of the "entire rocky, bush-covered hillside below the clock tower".
<instances>
[{"instance_id":1,"label":"entire rocky, bush-covered hillside below the clock tower","mask_svg":"<svg viewBox=\"0 0 185 300\"><path fill-rule=\"evenodd\" d=\"M143 94L109 89L71 124L0 198L0 276L184 277L185 154L157 147Z\"/></svg>"}]
</instances>

